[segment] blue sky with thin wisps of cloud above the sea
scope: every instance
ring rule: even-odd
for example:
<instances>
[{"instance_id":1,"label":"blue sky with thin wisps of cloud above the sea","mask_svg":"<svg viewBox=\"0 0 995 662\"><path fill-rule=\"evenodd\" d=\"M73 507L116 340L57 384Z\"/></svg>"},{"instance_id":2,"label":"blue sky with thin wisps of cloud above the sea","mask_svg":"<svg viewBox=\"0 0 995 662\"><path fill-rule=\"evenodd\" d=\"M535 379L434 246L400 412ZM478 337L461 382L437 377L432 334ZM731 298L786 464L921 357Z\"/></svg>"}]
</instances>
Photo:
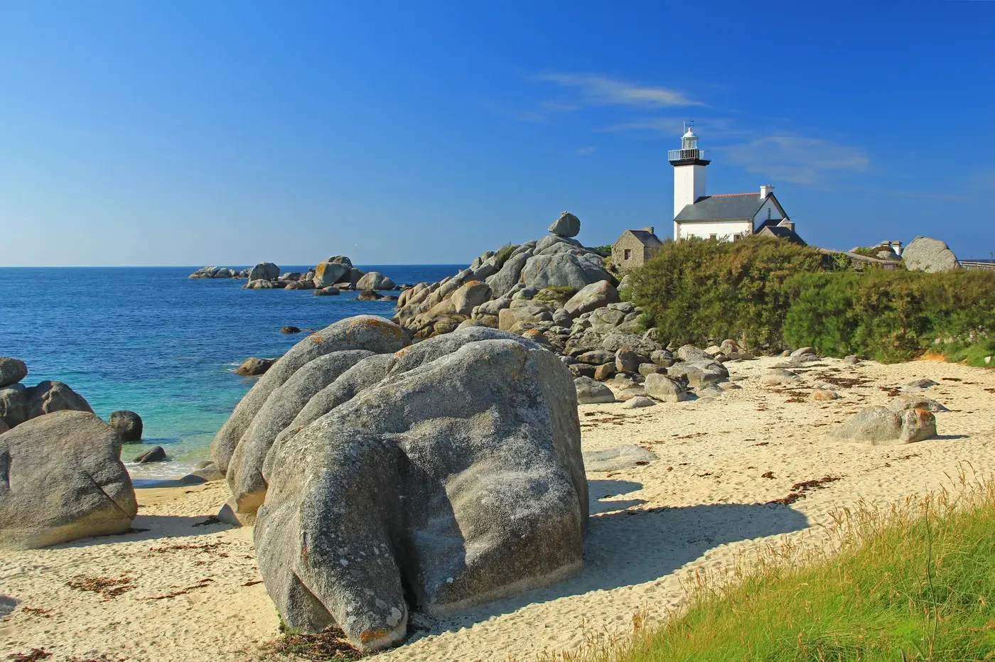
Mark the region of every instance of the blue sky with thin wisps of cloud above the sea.
<instances>
[{"instance_id":1,"label":"blue sky with thin wisps of cloud above the sea","mask_svg":"<svg viewBox=\"0 0 995 662\"><path fill-rule=\"evenodd\" d=\"M995 2L815 4L0 0L0 265L663 235L686 118L809 243L987 257Z\"/></svg>"}]
</instances>

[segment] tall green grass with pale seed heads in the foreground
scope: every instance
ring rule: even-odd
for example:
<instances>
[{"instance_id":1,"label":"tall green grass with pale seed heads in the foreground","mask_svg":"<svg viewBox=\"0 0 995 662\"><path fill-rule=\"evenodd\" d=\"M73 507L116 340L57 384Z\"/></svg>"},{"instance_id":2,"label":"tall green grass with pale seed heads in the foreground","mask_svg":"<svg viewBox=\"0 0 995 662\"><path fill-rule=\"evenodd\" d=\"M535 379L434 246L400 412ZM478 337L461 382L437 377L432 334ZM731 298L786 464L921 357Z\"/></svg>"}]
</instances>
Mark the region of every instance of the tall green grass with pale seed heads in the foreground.
<instances>
[{"instance_id":1,"label":"tall green grass with pale seed heads in the foreground","mask_svg":"<svg viewBox=\"0 0 995 662\"><path fill-rule=\"evenodd\" d=\"M659 628L637 616L624 645L562 659L993 659L995 483L965 487L958 499L940 492L889 509L862 503L839 511L839 553L783 547L731 577L697 575L686 612Z\"/></svg>"}]
</instances>

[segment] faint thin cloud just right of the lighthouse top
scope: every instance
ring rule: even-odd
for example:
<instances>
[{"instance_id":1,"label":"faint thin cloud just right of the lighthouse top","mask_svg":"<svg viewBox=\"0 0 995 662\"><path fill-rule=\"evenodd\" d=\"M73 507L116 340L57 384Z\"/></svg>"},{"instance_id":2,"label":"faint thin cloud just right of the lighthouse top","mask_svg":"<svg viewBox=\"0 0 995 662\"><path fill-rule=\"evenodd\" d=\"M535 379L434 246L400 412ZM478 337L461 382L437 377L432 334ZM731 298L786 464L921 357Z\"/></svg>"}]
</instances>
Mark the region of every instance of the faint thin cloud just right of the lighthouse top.
<instances>
[{"instance_id":1,"label":"faint thin cloud just right of the lighthouse top","mask_svg":"<svg viewBox=\"0 0 995 662\"><path fill-rule=\"evenodd\" d=\"M815 184L833 171L864 172L870 164L859 147L801 136L757 138L723 151L747 172L795 184Z\"/></svg>"}]
</instances>

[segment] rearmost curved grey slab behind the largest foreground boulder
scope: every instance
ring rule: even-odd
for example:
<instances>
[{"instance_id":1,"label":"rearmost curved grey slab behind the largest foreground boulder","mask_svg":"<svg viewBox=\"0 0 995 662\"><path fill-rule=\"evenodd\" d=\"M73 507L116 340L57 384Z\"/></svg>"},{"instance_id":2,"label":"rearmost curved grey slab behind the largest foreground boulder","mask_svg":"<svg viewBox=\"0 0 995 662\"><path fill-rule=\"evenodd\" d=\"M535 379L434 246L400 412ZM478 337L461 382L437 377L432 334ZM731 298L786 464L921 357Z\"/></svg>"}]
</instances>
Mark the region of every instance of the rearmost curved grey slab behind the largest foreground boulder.
<instances>
[{"instance_id":1,"label":"rearmost curved grey slab behind the largest foreground boulder","mask_svg":"<svg viewBox=\"0 0 995 662\"><path fill-rule=\"evenodd\" d=\"M229 482L233 487L241 484L235 482L241 480L237 478L237 474L239 473L238 468L234 472L229 471L229 463L240 443L243 440L247 443L257 443L258 439L254 439L254 437L257 434L256 429L260 425L264 425L267 430L272 430L276 426L275 424L271 424L270 421L265 420L265 418L275 415L273 408L279 405L279 401L283 397L295 394L293 396L295 399L293 407L297 408L297 411L293 412L295 415L307 404L306 400L299 396L297 391L298 389L306 391L307 387L299 385L297 380L291 381L301 369L326 354L349 350L366 350L372 353L383 354L396 352L407 344L408 336L401 327L382 317L374 317L372 315L358 315L339 320L307 336L292 347L287 354L282 356L280 361L273 364L238 404L235 411L214 437L214 441L211 444L211 458L218 469L229 476ZM317 379L328 379L327 375L334 374L334 371L340 365L334 364L334 366L328 367L325 361L321 359L314 366L308 367L302 375L313 374L318 375ZM345 366L342 370L348 367ZM322 372L324 372L325 377L319 376ZM287 390L281 388L289 382L290 387ZM321 386L323 388L326 386L326 383ZM271 398L274 400L274 404L268 405ZM259 422L256 421L257 414L263 414ZM279 415L286 416L286 412L281 411ZM291 417L293 418L293 416ZM283 417L280 419L283 419ZM280 429L273 431L273 438L280 431ZM267 431L267 435L269 434L270 431ZM273 438L270 438L269 441L272 442ZM263 449L261 452L265 457L266 449ZM258 470L262 466L264 457L255 457L251 460L253 471ZM239 467L246 461L250 460L246 460L245 453L240 452L238 459ZM249 482L251 481L247 479L246 484ZM255 502L257 496L253 496L249 501ZM251 503L247 504L247 508L255 510L255 506Z\"/></svg>"}]
</instances>

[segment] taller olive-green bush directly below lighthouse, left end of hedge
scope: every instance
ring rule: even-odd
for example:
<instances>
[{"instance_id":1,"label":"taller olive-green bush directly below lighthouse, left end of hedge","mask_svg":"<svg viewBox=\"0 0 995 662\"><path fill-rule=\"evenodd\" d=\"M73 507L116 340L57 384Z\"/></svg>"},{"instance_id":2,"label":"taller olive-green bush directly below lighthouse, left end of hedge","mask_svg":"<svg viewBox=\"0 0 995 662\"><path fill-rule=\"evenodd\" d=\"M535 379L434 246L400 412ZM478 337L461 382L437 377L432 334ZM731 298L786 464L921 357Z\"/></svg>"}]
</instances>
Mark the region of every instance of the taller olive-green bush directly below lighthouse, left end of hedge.
<instances>
[{"instance_id":1,"label":"taller olive-green bush directly below lighthouse, left end of hedge","mask_svg":"<svg viewBox=\"0 0 995 662\"><path fill-rule=\"evenodd\" d=\"M631 299L646 322L678 345L733 338L745 347L779 349L790 304L788 281L817 271L814 248L748 237L741 242L667 242L633 271Z\"/></svg>"}]
</instances>

